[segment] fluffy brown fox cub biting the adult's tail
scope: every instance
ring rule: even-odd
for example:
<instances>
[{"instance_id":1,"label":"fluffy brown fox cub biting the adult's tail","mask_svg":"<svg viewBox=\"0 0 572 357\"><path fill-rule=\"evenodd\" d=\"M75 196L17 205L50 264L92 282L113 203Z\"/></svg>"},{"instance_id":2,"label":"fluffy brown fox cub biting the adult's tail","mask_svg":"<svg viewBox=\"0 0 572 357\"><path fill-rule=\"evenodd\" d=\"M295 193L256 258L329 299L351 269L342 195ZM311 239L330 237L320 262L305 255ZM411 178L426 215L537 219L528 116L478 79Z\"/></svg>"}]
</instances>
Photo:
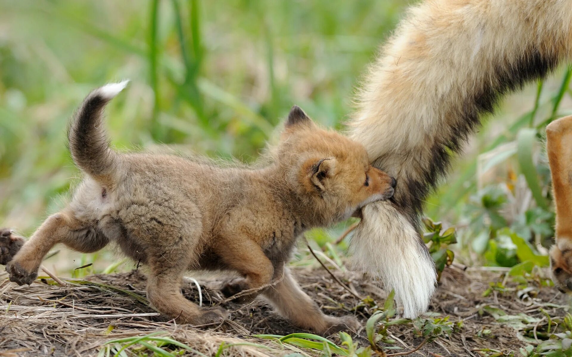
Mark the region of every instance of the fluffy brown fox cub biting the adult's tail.
<instances>
[{"instance_id":1,"label":"fluffy brown fox cub biting the adult's tail","mask_svg":"<svg viewBox=\"0 0 572 357\"><path fill-rule=\"evenodd\" d=\"M395 179L370 165L362 145L319 129L297 106L265 167L221 168L169 155L117 153L109 147L101 115L126 84L94 90L77 111L69 147L85 179L72 202L49 216L7 263L10 280L33 282L56 243L94 252L115 242L148 266L149 301L180 323L227 317L223 308L198 307L180 291L185 271L224 269L241 276L223 285L226 296L241 292L240 299L248 300L263 294L293 324L319 333L357 328L353 316L324 315L285 263L305 230L391 198Z\"/></svg>"}]
</instances>

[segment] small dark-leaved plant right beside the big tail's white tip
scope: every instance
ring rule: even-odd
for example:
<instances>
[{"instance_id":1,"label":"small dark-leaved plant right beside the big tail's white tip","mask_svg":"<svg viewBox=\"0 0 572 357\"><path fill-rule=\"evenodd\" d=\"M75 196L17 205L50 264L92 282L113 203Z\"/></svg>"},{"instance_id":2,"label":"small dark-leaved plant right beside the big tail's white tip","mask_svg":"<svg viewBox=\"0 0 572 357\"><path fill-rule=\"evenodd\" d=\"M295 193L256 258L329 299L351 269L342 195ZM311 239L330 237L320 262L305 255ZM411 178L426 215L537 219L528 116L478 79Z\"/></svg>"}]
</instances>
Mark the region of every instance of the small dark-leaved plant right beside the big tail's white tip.
<instances>
[{"instance_id":1,"label":"small dark-leaved plant right beside the big tail's white tip","mask_svg":"<svg viewBox=\"0 0 572 357\"><path fill-rule=\"evenodd\" d=\"M455 259L455 253L448 248L449 244L457 242L455 236L455 228L450 227L441 232L443 224L441 222L433 222L430 218L423 219L427 232L423 235L423 240L429 247L431 258L435 262L437 270L437 280L441 279L441 273L446 266L450 266Z\"/></svg>"}]
</instances>

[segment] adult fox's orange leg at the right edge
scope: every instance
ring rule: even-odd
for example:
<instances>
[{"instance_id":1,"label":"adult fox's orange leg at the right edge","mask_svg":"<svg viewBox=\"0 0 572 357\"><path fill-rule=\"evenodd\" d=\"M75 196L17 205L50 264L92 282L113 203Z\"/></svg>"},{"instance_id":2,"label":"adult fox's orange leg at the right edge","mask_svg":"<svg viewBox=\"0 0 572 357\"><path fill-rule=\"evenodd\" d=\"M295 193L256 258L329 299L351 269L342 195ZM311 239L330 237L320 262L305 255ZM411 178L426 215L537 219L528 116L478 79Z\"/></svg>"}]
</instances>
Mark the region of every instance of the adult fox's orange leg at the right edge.
<instances>
[{"instance_id":1,"label":"adult fox's orange leg at the right edge","mask_svg":"<svg viewBox=\"0 0 572 357\"><path fill-rule=\"evenodd\" d=\"M546 127L546 151L556 203L556 242L550 249L550 268L559 290L572 291L572 115Z\"/></svg>"}]
</instances>

